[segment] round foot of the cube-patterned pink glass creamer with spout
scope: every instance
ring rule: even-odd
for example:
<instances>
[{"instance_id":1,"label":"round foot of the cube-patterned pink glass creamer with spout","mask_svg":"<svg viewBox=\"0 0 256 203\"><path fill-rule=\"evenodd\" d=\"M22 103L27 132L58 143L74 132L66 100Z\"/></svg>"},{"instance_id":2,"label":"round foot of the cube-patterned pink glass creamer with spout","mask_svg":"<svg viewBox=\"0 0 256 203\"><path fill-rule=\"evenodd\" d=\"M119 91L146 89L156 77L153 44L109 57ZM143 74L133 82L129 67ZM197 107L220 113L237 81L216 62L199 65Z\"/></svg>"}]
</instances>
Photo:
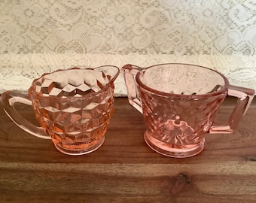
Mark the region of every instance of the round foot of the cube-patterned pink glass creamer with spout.
<instances>
[{"instance_id":1,"label":"round foot of the cube-patterned pink glass creamer with spout","mask_svg":"<svg viewBox=\"0 0 256 203\"><path fill-rule=\"evenodd\" d=\"M54 144L54 145L55 145L56 149L59 150L61 153L76 156L76 155L84 155L84 154L87 154L87 153L92 153L93 151L99 149L99 147L102 146L104 141L105 141L105 136L103 136L95 145L90 146L90 147L88 147L86 149L83 149L83 150L69 150L69 149L60 147L59 145L56 145L56 144Z\"/></svg>"}]
</instances>

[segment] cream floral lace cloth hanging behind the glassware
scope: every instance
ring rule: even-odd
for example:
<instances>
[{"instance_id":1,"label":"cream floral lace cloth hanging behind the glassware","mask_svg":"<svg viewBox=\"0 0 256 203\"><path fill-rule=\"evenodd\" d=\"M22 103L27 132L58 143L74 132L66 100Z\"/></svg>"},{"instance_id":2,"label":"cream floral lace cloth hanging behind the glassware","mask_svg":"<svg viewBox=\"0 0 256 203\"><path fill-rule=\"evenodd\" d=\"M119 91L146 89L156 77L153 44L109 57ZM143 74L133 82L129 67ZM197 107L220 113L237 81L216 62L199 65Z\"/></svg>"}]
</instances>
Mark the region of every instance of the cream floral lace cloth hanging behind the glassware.
<instances>
[{"instance_id":1,"label":"cream floral lace cloth hanging behind the glassware","mask_svg":"<svg viewBox=\"0 0 256 203\"><path fill-rule=\"evenodd\" d=\"M165 62L256 89L255 0L0 0L0 93L59 68Z\"/></svg>"}]
</instances>

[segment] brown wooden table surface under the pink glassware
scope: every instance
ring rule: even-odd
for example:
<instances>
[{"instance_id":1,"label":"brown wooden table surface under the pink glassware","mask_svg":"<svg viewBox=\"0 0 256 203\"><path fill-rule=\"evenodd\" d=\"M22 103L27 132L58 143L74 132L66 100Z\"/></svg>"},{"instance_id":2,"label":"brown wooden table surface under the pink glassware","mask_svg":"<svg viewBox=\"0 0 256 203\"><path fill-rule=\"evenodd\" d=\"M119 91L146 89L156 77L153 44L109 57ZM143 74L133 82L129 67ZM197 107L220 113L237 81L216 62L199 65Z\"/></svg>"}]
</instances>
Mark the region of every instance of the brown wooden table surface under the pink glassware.
<instances>
[{"instance_id":1,"label":"brown wooden table surface under the pink glassware","mask_svg":"<svg viewBox=\"0 0 256 203\"><path fill-rule=\"evenodd\" d=\"M0 202L256 202L256 101L230 135L206 135L203 153L173 159L143 139L142 114L115 99L105 143L68 156L0 110ZM219 117L230 111L231 98ZM35 120L28 106L19 108Z\"/></svg>"}]
</instances>

